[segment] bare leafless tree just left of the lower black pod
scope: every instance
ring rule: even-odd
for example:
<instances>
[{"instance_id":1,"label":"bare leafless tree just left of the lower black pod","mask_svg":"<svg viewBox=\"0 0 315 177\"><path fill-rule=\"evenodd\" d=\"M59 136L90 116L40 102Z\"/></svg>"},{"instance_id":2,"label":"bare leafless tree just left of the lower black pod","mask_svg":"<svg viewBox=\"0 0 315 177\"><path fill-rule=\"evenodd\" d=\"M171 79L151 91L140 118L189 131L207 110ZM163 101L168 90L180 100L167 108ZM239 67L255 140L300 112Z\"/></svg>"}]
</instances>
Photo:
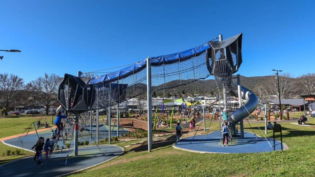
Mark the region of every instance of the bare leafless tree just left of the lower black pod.
<instances>
[{"instance_id":1,"label":"bare leafless tree just left of the lower black pod","mask_svg":"<svg viewBox=\"0 0 315 177\"><path fill-rule=\"evenodd\" d=\"M48 75L47 73L44 77L38 77L27 84L33 99L46 106L46 115L48 115L49 107L57 101L58 86L59 76L56 74Z\"/></svg>"}]
</instances>

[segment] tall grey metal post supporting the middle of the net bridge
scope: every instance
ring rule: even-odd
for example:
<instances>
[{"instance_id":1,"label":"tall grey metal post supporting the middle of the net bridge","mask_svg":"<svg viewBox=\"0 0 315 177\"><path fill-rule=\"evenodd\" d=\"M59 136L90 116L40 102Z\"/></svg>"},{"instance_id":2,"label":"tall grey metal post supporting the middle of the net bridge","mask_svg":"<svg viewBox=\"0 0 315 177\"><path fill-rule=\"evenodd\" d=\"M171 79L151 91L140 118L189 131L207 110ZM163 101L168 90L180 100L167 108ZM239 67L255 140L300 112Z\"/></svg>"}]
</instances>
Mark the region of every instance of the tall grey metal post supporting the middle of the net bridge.
<instances>
[{"instance_id":1,"label":"tall grey metal post supporting the middle of the net bridge","mask_svg":"<svg viewBox=\"0 0 315 177\"><path fill-rule=\"evenodd\" d=\"M152 149L152 95L151 95L151 65L150 58L146 58L146 92L148 105L148 151Z\"/></svg>"}]
</instances>

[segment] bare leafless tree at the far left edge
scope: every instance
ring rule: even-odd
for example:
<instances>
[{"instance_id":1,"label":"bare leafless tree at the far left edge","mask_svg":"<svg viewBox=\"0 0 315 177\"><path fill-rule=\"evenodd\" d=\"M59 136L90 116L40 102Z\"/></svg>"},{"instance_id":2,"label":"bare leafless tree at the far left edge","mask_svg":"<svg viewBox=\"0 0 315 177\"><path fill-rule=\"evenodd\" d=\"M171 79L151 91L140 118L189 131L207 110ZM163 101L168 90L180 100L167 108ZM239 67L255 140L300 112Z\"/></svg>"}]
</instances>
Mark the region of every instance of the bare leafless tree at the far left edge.
<instances>
[{"instance_id":1,"label":"bare leafless tree at the far left edge","mask_svg":"<svg viewBox=\"0 0 315 177\"><path fill-rule=\"evenodd\" d=\"M22 78L14 74L0 74L0 106L9 110L9 108L19 106L18 96L24 88ZM5 115L8 113L5 112Z\"/></svg>"}]
</instances>

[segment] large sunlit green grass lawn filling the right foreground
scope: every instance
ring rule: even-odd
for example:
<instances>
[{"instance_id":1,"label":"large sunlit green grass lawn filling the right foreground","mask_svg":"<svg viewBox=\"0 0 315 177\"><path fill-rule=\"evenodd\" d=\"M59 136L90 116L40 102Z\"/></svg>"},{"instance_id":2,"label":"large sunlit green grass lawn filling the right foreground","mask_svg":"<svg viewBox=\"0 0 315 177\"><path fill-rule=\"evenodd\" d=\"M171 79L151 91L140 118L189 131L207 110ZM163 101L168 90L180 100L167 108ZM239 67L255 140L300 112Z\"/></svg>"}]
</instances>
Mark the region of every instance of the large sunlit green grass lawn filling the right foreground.
<instances>
[{"instance_id":1,"label":"large sunlit green grass lawn filling the right foreground","mask_svg":"<svg viewBox=\"0 0 315 177\"><path fill-rule=\"evenodd\" d=\"M212 123L211 130L219 129L219 123ZM309 123L315 125L315 120L311 118ZM262 136L258 127L264 132L263 121L250 125ZM281 125L283 141L289 146L286 151L201 154L176 150L172 147L174 141L169 141L150 153L146 146L140 151L130 146L125 148L124 155L70 176L315 176L315 128L289 122ZM244 127L245 131L252 132L247 122ZM272 136L272 131L266 136ZM117 145L133 142L136 141Z\"/></svg>"}]
</instances>

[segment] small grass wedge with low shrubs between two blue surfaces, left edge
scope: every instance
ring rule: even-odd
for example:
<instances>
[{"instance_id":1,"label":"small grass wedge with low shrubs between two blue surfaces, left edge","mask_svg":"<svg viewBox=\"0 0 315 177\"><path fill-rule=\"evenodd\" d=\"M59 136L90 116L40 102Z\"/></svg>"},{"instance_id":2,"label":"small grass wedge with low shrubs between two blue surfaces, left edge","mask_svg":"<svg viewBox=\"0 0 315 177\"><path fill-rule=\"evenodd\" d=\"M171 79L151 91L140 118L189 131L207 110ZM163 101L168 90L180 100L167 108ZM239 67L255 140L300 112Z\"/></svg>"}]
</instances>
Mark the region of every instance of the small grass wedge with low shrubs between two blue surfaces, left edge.
<instances>
[{"instance_id":1,"label":"small grass wedge with low shrubs between two blue surfaces, left edge","mask_svg":"<svg viewBox=\"0 0 315 177\"><path fill-rule=\"evenodd\" d=\"M7 150L10 151L16 151L19 148L15 148L15 147L11 147L11 146L7 146L5 144L3 144L2 142L0 142L0 165L3 163L7 163L9 161L12 161L14 159L20 158L20 157L25 157L25 156L29 156L35 153L32 153L30 151L22 151L22 149L19 149L21 151L21 155L4 155L3 153L6 153Z\"/></svg>"}]
</instances>

